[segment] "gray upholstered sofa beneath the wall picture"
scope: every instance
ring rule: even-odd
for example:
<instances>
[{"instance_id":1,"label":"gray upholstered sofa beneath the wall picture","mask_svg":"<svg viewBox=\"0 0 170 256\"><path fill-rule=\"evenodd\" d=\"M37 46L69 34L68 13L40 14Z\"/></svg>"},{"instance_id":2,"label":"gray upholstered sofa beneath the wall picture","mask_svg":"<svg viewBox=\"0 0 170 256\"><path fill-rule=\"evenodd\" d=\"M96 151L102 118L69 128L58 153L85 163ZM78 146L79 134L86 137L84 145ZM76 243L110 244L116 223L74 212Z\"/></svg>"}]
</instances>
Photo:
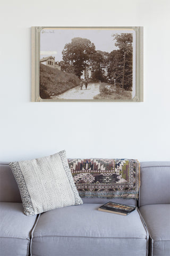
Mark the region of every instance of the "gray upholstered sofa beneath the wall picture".
<instances>
[{"instance_id":1,"label":"gray upholstered sofa beneath the wall picture","mask_svg":"<svg viewBox=\"0 0 170 256\"><path fill-rule=\"evenodd\" d=\"M127 216L99 212L101 198L26 216L8 163L0 174L1 256L170 255L170 162L141 163L139 202L112 200L139 207Z\"/></svg>"}]
</instances>

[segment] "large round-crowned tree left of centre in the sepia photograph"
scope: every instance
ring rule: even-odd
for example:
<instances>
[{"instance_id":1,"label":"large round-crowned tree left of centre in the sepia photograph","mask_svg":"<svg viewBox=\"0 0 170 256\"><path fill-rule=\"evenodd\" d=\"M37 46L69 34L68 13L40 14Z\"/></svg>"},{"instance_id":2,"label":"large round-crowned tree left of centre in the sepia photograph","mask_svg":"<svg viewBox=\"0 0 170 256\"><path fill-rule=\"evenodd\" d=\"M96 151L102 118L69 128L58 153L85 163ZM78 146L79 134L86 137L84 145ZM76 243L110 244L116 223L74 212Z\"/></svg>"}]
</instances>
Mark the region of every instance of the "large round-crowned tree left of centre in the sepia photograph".
<instances>
[{"instance_id":1,"label":"large round-crowned tree left of centre in the sepia photograph","mask_svg":"<svg viewBox=\"0 0 170 256\"><path fill-rule=\"evenodd\" d=\"M64 46L63 61L66 65L71 65L74 70L74 74L80 77L82 71L89 66L89 62L95 53L95 45L91 43L89 39L75 37L71 43L67 43Z\"/></svg>"}]
</instances>

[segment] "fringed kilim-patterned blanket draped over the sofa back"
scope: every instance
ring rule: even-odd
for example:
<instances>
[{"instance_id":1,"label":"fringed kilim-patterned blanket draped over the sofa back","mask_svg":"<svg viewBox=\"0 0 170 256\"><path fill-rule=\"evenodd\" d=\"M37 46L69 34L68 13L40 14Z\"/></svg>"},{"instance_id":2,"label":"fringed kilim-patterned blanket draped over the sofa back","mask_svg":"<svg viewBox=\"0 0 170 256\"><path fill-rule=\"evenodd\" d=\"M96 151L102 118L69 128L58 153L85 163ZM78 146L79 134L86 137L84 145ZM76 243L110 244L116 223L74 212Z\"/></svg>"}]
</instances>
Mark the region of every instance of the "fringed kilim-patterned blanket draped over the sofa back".
<instances>
[{"instance_id":1,"label":"fringed kilim-patterned blanket draped over the sofa back","mask_svg":"<svg viewBox=\"0 0 170 256\"><path fill-rule=\"evenodd\" d=\"M138 160L91 158L68 162L80 197L138 199Z\"/></svg>"}]
</instances>

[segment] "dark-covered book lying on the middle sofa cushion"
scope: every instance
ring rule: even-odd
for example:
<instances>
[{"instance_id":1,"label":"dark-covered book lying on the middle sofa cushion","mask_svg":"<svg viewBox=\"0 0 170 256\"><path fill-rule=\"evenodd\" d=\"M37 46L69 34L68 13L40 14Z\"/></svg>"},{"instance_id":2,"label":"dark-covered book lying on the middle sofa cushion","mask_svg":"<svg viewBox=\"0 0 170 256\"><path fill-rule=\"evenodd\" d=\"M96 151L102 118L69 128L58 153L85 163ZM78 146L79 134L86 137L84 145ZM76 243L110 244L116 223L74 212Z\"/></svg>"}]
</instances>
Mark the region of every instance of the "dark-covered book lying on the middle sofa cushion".
<instances>
[{"instance_id":1,"label":"dark-covered book lying on the middle sofa cushion","mask_svg":"<svg viewBox=\"0 0 170 256\"><path fill-rule=\"evenodd\" d=\"M121 215L128 215L132 211L136 209L135 206L125 205L125 204L117 204L114 202L108 202L104 205L101 205L98 210L102 212L112 212Z\"/></svg>"}]
</instances>

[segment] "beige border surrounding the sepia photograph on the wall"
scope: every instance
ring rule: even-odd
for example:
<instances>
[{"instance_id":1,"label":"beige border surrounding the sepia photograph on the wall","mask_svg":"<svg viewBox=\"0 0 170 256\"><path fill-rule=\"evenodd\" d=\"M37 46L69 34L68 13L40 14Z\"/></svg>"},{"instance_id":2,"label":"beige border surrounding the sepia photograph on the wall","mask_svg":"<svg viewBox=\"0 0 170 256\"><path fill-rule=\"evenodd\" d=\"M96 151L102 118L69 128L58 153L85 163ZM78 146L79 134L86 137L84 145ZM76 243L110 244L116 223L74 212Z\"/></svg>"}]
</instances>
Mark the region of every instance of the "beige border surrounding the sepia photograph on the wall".
<instances>
[{"instance_id":1,"label":"beige border surrounding the sepia photograph on the wall","mask_svg":"<svg viewBox=\"0 0 170 256\"><path fill-rule=\"evenodd\" d=\"M41 99L39 93L40 32L42 29L133 29L135 31L135 97L125 100ZM143 27L31 27L31 101L143 101Z\"/></svg>"}]
</instances>

